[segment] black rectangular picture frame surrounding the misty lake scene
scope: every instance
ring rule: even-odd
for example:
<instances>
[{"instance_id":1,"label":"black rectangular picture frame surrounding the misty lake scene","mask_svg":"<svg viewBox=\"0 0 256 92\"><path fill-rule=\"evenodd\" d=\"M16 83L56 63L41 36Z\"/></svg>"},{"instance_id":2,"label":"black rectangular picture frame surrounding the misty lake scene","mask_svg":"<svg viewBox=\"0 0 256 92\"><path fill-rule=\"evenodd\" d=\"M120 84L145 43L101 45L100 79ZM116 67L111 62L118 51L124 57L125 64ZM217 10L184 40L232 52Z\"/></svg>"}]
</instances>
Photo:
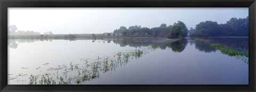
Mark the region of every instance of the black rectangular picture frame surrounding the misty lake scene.
<instances>
[{"instance_id":1,"label":"black rectangular picture frame surrounding the misty lake scene","mask_svg":"<svg viewBox=\"0 0 256 92\"><path fill-rule=\"evenodd\" d=\"M7 7L249 7L249 85L7 85ZM254 0L2 0L0 90L2 91L255 91Z\"/></svg>"}]
</instances>

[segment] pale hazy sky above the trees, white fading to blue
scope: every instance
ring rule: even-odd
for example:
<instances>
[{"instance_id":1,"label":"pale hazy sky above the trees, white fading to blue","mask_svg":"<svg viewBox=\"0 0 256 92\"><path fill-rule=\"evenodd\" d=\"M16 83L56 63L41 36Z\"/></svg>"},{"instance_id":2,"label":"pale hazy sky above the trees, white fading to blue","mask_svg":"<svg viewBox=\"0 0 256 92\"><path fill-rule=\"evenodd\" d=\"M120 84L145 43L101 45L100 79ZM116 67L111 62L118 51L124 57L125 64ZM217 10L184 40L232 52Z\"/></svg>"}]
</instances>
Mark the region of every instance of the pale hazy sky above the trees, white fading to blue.
<instances>
[{"instance_id":1,"label":"pale hazy sky above the trees, white fading to blue","mask_svg":"<svg viewBox=\"0 0 256 92\"><path fill-rule=\"evenodd\" d=\"M159 27L182 21L187 28L210 20L226 23L230 18L246 18L247 7L239 8L31 8L9 7L8 24L18 30L53 34L98 34L120 26Z\"/></svg>"}]
</instances>

